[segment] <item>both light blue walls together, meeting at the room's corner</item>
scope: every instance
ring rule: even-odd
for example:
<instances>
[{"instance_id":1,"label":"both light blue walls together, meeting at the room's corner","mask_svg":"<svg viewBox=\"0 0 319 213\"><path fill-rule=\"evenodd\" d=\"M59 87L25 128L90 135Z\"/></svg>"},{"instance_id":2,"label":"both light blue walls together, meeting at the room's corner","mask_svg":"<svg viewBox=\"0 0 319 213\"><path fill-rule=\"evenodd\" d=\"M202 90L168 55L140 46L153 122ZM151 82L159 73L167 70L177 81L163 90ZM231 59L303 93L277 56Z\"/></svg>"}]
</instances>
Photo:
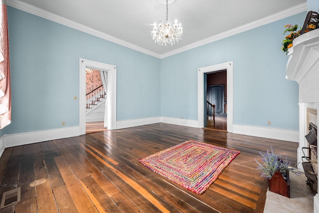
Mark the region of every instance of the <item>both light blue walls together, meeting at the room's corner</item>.
<instances>
[{"instance_id":1,"label":"both light blue walls together, meeting at the room's corner","mask_svg":"<svg viewBox=\"0 0 319 213\"><path fill-rule=\"evenodd\" d=\"M8 6L13 134L79 125L79 58L117 65L117 121L197 120L197 68L234 62L234 124L298 129L298 84L285 80L284 25L306 13L163 59ZM269 126L268 126L269 127Z\"/></svg>"}]
</instances>

